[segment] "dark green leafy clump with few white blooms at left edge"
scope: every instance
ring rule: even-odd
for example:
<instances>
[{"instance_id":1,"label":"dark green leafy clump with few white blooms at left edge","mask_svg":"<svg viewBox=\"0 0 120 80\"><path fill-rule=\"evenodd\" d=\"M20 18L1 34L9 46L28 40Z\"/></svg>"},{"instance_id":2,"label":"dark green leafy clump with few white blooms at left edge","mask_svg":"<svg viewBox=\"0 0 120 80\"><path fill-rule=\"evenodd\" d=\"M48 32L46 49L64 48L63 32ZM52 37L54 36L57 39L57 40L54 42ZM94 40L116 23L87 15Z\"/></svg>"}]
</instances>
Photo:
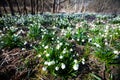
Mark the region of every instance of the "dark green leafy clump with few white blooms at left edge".
<instances>
[{"instance_id":1,"label":"dark green leafy clump with few white blooms at left edge","mask_svg":"<svg viewBox=\"0 0 120 80\"><path fill-rule=\"evenodd\" d=\"M15 48L22 47L23 42L18 35L14 33L14 31L9 30L2 38L1 38L1 48Z\"/></svg>"}]
</instances>

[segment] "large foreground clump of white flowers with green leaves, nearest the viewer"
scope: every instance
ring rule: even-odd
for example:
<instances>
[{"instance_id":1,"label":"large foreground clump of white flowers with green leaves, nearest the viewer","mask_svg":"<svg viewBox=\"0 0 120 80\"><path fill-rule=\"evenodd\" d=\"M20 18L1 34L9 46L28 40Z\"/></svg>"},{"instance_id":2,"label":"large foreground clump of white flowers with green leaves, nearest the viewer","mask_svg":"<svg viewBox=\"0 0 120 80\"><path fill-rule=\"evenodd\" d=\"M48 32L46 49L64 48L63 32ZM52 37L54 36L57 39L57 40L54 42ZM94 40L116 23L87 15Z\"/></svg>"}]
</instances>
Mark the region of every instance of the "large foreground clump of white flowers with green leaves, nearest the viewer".
<instances>
[{"instance_id":1,"label":"large foreground clump of white flowers with green leaves, nearest the viewer","mask_svg":"<svg viewBox=\"0 0 120 80\"><path fill-rule=\"evenodd\" d=\"M56 42L56 45L40 44L39 55L43 59L43 71L65 79L76 76L80 66L80 58L76 55L72 44L59 38Z\"/></svg>"}]
</instances>

